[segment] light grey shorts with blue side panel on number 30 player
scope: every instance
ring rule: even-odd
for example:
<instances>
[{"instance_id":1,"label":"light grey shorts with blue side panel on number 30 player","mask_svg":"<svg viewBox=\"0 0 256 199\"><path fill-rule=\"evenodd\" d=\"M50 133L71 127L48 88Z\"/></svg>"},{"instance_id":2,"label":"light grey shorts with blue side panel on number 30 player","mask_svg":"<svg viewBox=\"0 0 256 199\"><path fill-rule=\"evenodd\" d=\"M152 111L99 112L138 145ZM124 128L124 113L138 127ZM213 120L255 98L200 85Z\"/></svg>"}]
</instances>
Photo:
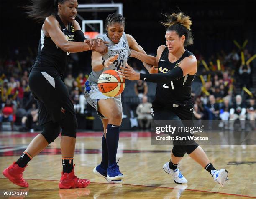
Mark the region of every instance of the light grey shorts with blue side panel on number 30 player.
<instances>
[{"instance_id":1,"label":"light grey shorts with blue side panel on number 30 player","mask_svg":"<svg viewBox=\"0 0 256 199\"><path fill-rule=\"evenodd\" d=\"M100 112L98 112L98 101L100 99L108 99L108 98L113 98L115 99L116 103L120 107L120 110L123 111L122 109L122 101L121 101L121 95L118 95L116 97L108 97L106 95L103 95L102 92L100 92L98 85L93 84L89 81L85 82L85 87L84 87L84 97L87 100L87 102L96 109L97 114L100 116L100 119L105 118Z\"/></svg>"}]
</instances>

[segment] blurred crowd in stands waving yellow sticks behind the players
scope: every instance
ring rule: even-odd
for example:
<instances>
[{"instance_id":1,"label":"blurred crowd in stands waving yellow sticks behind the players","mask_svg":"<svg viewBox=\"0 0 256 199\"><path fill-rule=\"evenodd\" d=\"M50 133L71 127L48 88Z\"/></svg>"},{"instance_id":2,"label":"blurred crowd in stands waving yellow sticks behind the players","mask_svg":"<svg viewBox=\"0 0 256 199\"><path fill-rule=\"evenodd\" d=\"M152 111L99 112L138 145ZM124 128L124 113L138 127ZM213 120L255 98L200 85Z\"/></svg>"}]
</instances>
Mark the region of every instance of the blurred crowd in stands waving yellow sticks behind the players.
<instances>
[{"instance_id":1,"label":"blurred crowd in stands waving yellow sticks behind the players","mask_svg":"<svg viewBox=\"0 0 256 199\"><path fill-rule=\"evenodd\" d=\"M28 75L36 54L30 56L21 55L19 50L8 53L0 58L0 128L3 122L10 122L11 129L15 126L20 131L38 130L38 109L36 101L28 86ZM203 52L195 52L198 60L197 76L192 85L192 97L194 100L194 116L197 120L223 120L220 127L225 126L225 121L251 120L256 118L255 91L256 91L256 66L253 65L252 55L248 50L233 50L230 53L221 51L216 55L204 57ZM89 74L77 70L78 56L71 56L68 71L63 81L67 85L70 97L74 103L77 114L89 114L93 112L84 99L84 83ZM141 62L129 60L130 64L138 72L146 72ZM90 71L89 69L87 71ZM128 82L127 82L128 83ZM131 82L130 82L131 83ZM133 109L138 119L140 129L150 126L151 101L154 92L150 92L146 82L133 82L133 87L125 90L133 90L132 96L137 99ZM123 98L126 97L126 91ZM129 106L129 104L127 104ZM230 124L230 123L229 123ZM245 128L241 125L241 128ZM255 126L252 128L255 129Z\"/></svg>"}]
</instances>

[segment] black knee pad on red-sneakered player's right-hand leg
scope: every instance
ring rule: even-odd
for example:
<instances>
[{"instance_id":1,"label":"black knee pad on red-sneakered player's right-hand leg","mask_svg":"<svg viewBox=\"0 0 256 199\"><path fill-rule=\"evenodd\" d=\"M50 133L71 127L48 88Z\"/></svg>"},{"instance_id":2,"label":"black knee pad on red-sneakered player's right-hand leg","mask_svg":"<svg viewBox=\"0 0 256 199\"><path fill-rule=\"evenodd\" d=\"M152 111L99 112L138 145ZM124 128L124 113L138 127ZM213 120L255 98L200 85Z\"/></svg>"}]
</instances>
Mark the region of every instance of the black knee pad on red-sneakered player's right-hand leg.
<instances>
[{"instance_id":1,"label":"black knee pad on red-sneakered player's right-hand leg","mask_svg":"<svg viewBox=\"0 0 256 199\"><path fill-rule=\"evenodd\" d=\"M69 137L77 137L77 117L69 112L66 113L66 117L62 119L59 124L61 126L61 135Z\"/></svg>"}]
</instances>

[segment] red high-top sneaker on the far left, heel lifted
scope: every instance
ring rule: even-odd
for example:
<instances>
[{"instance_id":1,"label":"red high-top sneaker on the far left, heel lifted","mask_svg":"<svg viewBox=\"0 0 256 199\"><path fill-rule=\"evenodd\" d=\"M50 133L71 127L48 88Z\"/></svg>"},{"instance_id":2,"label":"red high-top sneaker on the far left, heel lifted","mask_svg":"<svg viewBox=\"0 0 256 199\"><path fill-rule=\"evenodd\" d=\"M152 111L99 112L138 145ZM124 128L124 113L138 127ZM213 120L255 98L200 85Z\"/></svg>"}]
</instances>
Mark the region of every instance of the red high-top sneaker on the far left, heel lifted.
<instances>
[{"instance_id":1,"label":"red high-top sneaker on the far left, heel lifted","mask_svg":"<svg viewBox=\"0 0 256 199\"><path fill-rule=\"evenodd\" d=\"M13 182L13 184L17 184L20 187L28 187L28 183L23 179L22 174L26 167L19 167L16 162L13 162L12 165L3 170L3 175Z\"/></svg>"}]
</instances>

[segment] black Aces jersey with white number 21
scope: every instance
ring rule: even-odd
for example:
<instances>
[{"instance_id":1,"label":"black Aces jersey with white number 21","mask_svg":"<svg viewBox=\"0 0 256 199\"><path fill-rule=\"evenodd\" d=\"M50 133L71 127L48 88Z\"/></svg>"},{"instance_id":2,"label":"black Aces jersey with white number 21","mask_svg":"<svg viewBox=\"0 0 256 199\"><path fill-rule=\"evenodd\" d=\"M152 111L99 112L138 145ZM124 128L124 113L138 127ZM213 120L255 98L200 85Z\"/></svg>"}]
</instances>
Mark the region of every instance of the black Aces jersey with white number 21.
<instances>
[{"instance_id":1,"label":"black Aces jersey with white number 21","mask_svg":"<svg viewBox=\"0 0 256 199\"><path fill-rule=\"evenodd\" d=\"M176 62L171 63L168 59L168 48L162 52L158 62L158 73L166 73L179 65L179 62L185 57L193 55L186 50L182 57ZM191 83L195 75L185 75L179 80L172 81L168 84L158 83L156 86L156 97L152 103L153 108L172 108L185 106L191 101Z\"/></svg>"}]
</instances>

